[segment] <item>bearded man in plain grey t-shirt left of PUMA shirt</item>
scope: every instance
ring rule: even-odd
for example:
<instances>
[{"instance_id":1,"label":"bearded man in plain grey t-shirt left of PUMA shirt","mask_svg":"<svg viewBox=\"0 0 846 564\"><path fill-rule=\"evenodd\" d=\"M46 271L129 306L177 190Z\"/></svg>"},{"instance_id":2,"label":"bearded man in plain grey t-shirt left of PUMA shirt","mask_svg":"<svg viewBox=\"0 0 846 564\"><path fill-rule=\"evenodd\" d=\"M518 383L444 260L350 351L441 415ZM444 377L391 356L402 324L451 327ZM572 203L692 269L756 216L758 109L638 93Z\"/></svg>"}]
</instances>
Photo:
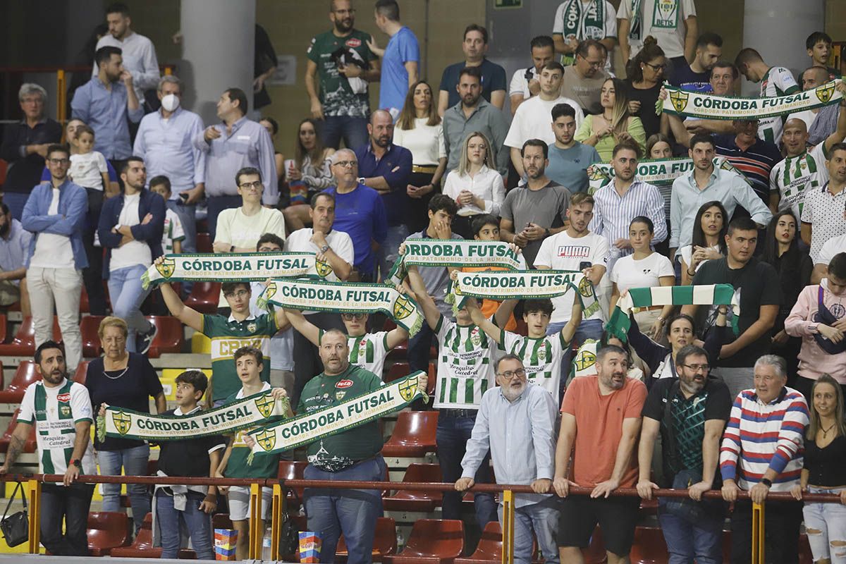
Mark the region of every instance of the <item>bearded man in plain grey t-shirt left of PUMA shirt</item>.
<instances>
[{"instance_id":1,"label":"bearded man in plain grey t-shirt left of PUMA shirt","mask_svg":"<svg viewBox=\"0 0 846 564\"><path fill-rule=\"evenodd\" d=\"M523 249L526 264L533 268L541 243L567 228L570 191L547 178L549 147L539 139L527 140L520 148L525 186L505 196L500 208L499 236Z\"/></svg>"}]
</instances>

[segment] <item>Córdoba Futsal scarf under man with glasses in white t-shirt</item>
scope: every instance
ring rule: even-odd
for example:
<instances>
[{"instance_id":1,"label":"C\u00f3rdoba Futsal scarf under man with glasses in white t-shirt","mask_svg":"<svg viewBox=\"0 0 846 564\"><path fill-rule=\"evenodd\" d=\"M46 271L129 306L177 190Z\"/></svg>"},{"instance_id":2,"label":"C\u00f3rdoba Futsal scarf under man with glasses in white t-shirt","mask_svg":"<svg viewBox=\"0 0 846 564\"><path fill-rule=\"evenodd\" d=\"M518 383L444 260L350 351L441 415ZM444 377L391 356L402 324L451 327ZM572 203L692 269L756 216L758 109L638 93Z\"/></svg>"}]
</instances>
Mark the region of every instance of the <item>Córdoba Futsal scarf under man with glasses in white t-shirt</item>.
<instances>
[{"instance_id":1,"label":"C\u00f3rdoba Futsal scarf under man with glasses in white t-shirt","mask_svg":"<svg viewBox=\"0 0 846 564\"><path fill-rule=\"evenodd\" d=\"M145 290L162 282L261 282L267 278L321 277L332 272L314 253L233 253L165 255L141 275Z\"/></svg>"}]
</instances>

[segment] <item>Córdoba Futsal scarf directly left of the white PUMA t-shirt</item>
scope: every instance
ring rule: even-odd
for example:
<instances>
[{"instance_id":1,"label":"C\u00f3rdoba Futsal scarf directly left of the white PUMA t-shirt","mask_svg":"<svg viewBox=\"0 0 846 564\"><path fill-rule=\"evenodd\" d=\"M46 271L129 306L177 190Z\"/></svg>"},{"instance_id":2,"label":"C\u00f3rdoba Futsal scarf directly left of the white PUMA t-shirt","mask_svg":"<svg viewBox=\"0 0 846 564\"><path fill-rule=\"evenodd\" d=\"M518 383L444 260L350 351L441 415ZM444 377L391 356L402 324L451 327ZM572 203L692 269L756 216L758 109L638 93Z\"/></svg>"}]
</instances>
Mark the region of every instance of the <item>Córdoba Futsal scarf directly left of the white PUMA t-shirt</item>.
<instances>
[{"instance_id":1,"label":"C\u00f3rdoba Futsal scarf directly left of the white PUMA t-shirt","mask_svg":"<svg viewBox=\"0 0 846 564\"><path fill-rule=\"evenodd\" d=\"M593 284L580 271L459 272L446 301L461 309L469 298L541 299L578 293L585 317L600 308Z\"/></svg>"}]
</instances>

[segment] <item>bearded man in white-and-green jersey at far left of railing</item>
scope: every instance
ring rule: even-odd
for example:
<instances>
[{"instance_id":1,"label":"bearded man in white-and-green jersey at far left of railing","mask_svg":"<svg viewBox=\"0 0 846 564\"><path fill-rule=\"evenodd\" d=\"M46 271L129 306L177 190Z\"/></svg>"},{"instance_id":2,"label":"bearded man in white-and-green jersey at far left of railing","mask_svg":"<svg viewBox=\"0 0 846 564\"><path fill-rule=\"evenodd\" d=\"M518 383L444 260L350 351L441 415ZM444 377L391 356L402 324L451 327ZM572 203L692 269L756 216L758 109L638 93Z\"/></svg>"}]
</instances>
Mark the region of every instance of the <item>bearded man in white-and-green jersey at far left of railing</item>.
<instances>
[{"instance_id":1,"label":"bearded man in white-and-green jersey at far left of railing","mask_svg":"<svg viewBox=\"0 0 846 564\"><path fill-rule=\"evenodd\" d=\"M35 425L38 471L64 474L61 484L41 485L41 544L56 556L88 556L86 528L94 485L74 481L80 474L96 474L89 441L94 422L91 398L85 386L68 379L64 351L58 342L42 342L35 361L41 381L33 382L24 392L0 474L8 474L24 452Z\"/></svg>"}]
</instances>

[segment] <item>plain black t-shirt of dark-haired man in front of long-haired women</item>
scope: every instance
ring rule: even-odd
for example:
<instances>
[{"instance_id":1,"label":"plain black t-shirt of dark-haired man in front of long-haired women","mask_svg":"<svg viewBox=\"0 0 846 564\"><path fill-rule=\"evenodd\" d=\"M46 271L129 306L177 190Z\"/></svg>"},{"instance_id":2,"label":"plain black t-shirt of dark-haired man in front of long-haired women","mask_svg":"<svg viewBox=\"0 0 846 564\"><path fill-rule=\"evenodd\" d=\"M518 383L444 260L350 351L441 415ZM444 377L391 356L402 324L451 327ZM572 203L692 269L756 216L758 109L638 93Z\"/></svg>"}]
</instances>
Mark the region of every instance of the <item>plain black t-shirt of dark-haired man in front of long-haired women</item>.
<instances>
[{"instance_id":1,"label":"plain black t-shirt of dark-haired man in front of long-haired women","mask_svg":"<svg viewBox=\"0 0 846 564\"><path fill-rule=\"evenodd\" d=\"M743 268L728 268L728 258L718 260L706 260L700 266L699 271L693 278L693 283L698 284L731 284L734 293L739 294L740 315L738 319L738 336L758 320L761 313L761 305L781 305L783 302L781 283L778 281L776 269L766 262L756 258L750 259ZM732 309L728 309L729 317L733 315ZM707 331L714 324L717 318L717 306L711 306L705 321ZM728 320L731 324L731 319ZM705 334L701 331L700 334ZM743 350L735 353L728 359L720 359L719 365L725 367L746 367L751 368L755 360L766 354L770 348L772 331L764 331L756 341L750 342Z\"/></svg>"}]
</instances>

